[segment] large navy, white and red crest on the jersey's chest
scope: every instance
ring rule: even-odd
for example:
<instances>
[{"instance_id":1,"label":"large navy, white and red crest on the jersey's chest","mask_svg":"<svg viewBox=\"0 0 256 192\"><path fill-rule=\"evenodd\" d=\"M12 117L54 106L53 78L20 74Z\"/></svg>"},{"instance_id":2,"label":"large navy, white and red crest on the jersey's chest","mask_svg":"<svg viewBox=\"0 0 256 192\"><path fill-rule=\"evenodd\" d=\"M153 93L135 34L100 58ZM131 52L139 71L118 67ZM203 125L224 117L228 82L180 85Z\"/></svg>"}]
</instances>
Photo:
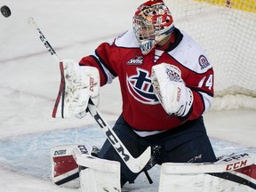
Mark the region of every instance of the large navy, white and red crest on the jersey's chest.
<instances>
[{"instance_id":1,"label":"large navy, white and red crest on the jersey's chest","mask_svg":"<svg viewBox=\"0 0 256 192\"><path fill-rule=\"evenodd\" d=\"M159 101L153 92L151 78L147 70L137 68L137 74L126 76L126 83L129 92L135 100L148 105L156 105Z\"/></svg>"}]
</instances>

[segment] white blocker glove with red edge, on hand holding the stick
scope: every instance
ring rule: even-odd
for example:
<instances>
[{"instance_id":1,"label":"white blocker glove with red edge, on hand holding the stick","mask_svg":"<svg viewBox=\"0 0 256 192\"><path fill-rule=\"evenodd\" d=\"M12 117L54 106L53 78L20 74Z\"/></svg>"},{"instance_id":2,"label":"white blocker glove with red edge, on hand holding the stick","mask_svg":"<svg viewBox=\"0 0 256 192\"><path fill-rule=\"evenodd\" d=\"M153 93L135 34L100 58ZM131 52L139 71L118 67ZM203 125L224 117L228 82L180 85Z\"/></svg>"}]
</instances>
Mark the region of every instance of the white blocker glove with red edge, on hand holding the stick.
<instances>
[{"instance_id":1,"label":"white blocker glove with red edge, on hand holding the stick","mask_svg":"<svg viewBox=\"0 0 256 192\"><path fill-rule=\"evenodd\" d=\"M90 66L79 66L75 60L60 60L60 91L52 117L68 118L86 115L89 99L95 106L100 102L99 70Z\"/></svg>"}]
</instances>

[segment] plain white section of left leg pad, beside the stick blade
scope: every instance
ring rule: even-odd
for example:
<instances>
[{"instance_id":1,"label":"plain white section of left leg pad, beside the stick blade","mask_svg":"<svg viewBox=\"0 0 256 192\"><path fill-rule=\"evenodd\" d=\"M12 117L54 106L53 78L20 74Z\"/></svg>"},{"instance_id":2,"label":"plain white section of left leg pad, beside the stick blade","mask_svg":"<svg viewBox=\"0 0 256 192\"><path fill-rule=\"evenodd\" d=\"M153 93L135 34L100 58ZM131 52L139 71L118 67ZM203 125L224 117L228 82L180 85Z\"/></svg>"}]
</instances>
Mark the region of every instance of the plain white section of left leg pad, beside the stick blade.
<instances>
[{"instance_id":1,"label":"plain white section of left leg pad, beside the stick blade","mask_svg":"<svg viewBox=\"0 0 256 192\"><path fill-rule=\"evenodd\" d=\"M76 164L85 167L79 173L82 192L120 192L120 163L81 154L74 149Z\"/></svg>"}]
</instances>

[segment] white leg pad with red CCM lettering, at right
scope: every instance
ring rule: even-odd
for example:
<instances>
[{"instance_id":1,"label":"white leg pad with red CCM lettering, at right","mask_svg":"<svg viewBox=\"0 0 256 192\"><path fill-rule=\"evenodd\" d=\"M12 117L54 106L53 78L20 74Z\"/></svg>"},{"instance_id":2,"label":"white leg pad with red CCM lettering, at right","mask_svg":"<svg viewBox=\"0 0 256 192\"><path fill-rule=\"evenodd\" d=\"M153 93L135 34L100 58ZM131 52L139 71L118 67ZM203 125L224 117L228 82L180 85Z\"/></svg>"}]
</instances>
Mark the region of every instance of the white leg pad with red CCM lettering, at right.
<instances>
[{"instance_id":1,"label":"white leg pad with red CCM lettering, at right","mask_svg":"<svg viewBox=\"0 0 256 192\"><path fill-rule=\"evenodd\" d=\"M212 164L165 163L161 166L158 192L255 192L255 164L255 156L246 153ZM231 177L222 179L207 172L228 172Z\"/></svg>"}]
</instances>

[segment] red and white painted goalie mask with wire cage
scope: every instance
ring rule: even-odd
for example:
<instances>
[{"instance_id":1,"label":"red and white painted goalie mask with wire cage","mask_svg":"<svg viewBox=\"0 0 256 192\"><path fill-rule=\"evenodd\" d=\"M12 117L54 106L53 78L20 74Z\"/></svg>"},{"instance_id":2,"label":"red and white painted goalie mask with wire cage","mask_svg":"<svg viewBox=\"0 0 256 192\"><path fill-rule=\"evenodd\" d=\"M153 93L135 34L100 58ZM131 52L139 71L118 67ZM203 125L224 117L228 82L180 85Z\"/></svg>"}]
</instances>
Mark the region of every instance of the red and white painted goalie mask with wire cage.
<instances>
[{"instance_id":1,"label":"red and white painted goalie mask with wire cage","mask_svg":"<svg viewBox=\"0 0 256 192\"><path fill-rule=\"evenodd\" d=\"M172 13L163 0L151 0L141 4L133 16L132 23L134 34L144 55L174 29Z\"/></svg>"}]
</instances>

